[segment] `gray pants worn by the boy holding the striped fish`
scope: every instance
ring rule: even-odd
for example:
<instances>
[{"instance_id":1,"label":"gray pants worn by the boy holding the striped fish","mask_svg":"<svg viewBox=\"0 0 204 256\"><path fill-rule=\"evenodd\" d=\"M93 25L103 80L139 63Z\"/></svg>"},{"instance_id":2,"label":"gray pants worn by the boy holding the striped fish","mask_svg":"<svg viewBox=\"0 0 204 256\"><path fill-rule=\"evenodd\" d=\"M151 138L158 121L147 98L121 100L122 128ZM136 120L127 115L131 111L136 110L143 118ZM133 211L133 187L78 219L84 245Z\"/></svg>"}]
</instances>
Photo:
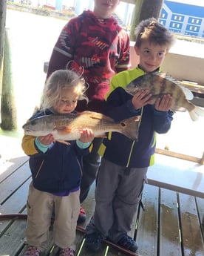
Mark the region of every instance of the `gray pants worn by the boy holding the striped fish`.
<instances>
[{"instance_id":1,"label":"gray pants worn by the boy holding the striped fish","mask_svg":"<svg viewBox=\"0 0 204 256\"><path fill-rule=\"evenodd\" d=\"M131 230L148 168L126 168L102 158L95 188L95 213L86 233L101 232L115 243Z\"/></svg>"}]
</instances>

